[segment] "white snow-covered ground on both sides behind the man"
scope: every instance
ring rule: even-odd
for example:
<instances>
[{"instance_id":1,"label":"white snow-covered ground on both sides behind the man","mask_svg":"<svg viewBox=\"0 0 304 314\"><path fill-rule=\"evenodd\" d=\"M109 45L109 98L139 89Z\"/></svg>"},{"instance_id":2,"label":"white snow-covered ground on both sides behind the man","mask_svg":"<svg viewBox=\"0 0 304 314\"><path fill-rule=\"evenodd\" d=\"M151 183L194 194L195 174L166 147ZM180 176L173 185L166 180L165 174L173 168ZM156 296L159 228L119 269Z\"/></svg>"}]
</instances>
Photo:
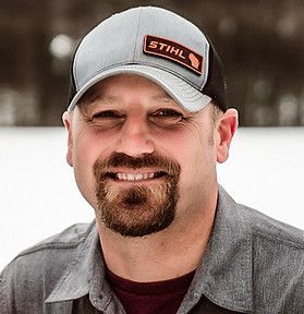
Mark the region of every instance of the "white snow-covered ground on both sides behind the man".
<instances>
[{"instance_id":1,"label":"white snow-covered ground on both sides behind the man","mask_svg":"<svg viewBox=\"0 0 304 314\"><path fill-rule=\"evenodd\" d=\"M219 182L240 203L304 229L304 128L240 129ZM0 128L0 269L94 212L65 164L63 128Z\"/></svg>"}]
</instances>

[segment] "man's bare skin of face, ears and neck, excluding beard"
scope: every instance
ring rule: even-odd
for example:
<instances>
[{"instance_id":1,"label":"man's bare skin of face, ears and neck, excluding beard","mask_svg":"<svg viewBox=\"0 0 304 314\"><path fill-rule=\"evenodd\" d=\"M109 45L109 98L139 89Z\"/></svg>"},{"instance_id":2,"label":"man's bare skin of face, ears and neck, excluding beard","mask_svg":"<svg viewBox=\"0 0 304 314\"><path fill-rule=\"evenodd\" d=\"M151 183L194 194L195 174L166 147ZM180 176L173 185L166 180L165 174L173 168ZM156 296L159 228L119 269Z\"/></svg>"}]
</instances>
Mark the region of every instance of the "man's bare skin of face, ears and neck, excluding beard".
<instances>
[{"instance_id":1,"label":"man's bare skin of face, ears and neck, excluding beard","mask_svg":"<svg viewBox=\"0 0 304 314\"><path fill-rule=\"evenodd\" d=\"M216 121L214 112L212 104L187 112L151 81L117 75L98 83L72 113L63 113L66 160L74 168L80 191L95 209L93 169L98 158L112 153L132 157L158 154L173 158L181 167L175 218L165 230L141 238L122 237L106 228L97 215L106 264L118 276L138 282L160 281L197 267L215 218L216 166L227 160L238 126L235 109L217 114ZM157 171L111 170L125 174ZM161 179L108 180L119 191L133 184L159 184Z\"/></svg>"}]
</instances>

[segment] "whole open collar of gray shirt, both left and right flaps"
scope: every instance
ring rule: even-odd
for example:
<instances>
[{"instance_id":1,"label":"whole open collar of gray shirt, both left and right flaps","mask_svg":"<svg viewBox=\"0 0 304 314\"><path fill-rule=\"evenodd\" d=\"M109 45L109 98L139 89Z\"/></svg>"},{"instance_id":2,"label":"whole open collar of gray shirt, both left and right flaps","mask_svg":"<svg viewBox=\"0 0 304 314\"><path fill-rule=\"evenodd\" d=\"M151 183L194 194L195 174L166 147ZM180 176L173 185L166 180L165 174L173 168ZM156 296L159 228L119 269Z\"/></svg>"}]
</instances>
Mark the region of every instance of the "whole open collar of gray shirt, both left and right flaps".
<instances>
[{"instance_id":1,"label":"whole open collar of gray shirt, both left and right flaps","mask_svg":"<svg viewBox=\"0 0 304 314\"><path fill-rule=\"evenodd\" d=\"M253 311L252 234L238 204L219 186L217 214L211 237L186 298L191 305L205 294L211 302L232 311ZM105 310L112 298L105 280L99 237L93 224L72 265L57 282L46 302L70 301L89 293ZM98 292L97 292L98 291ZM104 293L100 293L102 292ZM98 293L98 295L97 295Z\"/></svg>"}]
</instances>

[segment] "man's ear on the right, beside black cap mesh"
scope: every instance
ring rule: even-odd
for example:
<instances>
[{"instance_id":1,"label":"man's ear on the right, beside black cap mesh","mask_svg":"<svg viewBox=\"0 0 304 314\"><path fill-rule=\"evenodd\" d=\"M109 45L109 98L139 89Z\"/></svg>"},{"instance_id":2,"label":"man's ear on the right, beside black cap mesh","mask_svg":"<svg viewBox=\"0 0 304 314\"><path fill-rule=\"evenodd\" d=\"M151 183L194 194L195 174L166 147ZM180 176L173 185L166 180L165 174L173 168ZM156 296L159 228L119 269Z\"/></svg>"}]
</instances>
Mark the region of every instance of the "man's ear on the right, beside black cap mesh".
<instances>
[{"instance_id":1,"label":"man's ear on the right, beside black cap mesh","mask_svg":"<svg viewBox=\"0 0 304 314\"><path fill-rule=\"evenodd\" d=\"M228 109L217 122L217 161L222 164L229 156L229 147L238 128L238 111Z\"/></svg>"}]
</instances>

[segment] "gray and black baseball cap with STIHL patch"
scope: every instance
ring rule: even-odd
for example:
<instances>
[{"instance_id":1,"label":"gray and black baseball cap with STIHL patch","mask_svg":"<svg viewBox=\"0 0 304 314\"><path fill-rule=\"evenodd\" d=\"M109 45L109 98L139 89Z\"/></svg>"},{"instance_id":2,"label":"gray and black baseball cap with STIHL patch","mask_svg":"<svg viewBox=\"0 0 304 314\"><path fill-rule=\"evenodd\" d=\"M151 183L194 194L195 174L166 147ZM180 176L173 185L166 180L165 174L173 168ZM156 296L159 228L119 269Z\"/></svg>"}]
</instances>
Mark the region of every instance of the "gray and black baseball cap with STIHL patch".
<instances>
[{"instance_id":1,"label":"gray and black baseball cap with STIHL patch","mask_svg":"<svg viewBox=\"0 0 304 314\"><path fill-rule=\"evenodd\" d=\"M171 11L133 8L92 29L73 57L68 110L96 83L125 73L157 83L187 111L211 100L227 110L216 50L197 26Z\"/></svg>"}]
</instances>

